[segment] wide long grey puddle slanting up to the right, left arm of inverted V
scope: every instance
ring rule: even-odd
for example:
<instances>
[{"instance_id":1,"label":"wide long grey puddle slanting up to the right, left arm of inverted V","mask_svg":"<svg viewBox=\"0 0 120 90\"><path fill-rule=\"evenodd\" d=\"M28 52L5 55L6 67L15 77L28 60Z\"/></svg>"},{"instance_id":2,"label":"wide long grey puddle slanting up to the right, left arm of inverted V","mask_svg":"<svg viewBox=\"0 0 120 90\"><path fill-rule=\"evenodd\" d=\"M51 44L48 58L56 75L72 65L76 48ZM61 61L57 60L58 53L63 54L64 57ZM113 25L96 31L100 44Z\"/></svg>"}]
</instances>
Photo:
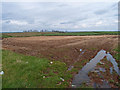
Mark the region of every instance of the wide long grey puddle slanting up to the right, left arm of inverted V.
<instances>
[{"instance_id":1,"label":"wide long grey puddle slanting up to the right, left arm of inverted V","mask_svg":"<svg viewBox=\"0 0 120 90\"><path fill-rule=\"evenodd\" d=\"M83 82L89 82L90 79L88 77L88 72L92 71L94 69L94 67L96 66L96 64L98 62L100 62L100 60L102 60L106 55L106 51L101 50L97 53L97 55L90 60L89 63L87 63L80 71L77 75L75 75L73 81L72 81L72 85L74 87L80 87L80 85Z\"/></svg>"}]
</instances>

